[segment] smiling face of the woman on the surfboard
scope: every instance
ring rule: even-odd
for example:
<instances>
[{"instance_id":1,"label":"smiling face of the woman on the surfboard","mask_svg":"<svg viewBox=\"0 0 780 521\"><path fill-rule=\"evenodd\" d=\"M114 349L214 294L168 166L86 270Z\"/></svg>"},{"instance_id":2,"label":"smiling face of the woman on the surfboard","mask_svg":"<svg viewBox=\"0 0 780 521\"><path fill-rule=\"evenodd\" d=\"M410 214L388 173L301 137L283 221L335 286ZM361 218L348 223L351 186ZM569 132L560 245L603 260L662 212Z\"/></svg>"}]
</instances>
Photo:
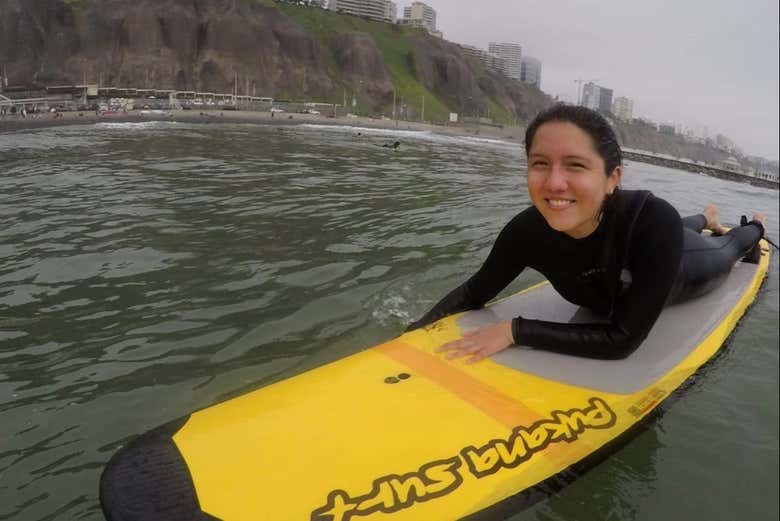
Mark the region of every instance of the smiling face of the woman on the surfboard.
<instances>
[{"instance_id":1,"label":"smiling face of the woman on the surfboard","mask_svg":"<svg viewBox=\"0 0 780 521\"><path fill-rule=\"evenodd\" d=\"M604 160L590 136L573 123L539 127L528 153L528 193L547 224L575 239L593 233L601 204L620 182L622 171L604 172Z\"/></svg>"}]
</instances>

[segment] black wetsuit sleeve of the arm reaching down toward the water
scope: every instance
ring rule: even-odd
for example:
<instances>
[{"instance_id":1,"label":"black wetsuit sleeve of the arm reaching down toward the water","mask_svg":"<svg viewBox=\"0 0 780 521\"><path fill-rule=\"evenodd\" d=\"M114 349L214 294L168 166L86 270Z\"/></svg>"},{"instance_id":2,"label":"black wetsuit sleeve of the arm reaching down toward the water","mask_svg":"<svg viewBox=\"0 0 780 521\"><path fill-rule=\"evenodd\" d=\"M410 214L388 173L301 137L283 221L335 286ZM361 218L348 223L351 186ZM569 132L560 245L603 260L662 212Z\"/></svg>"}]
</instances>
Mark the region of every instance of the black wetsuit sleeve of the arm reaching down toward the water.
<instances>
[{"instance_id":1,"label":"black wetsuit sleeve of the arm reaching down toward the water","mask_svg":"<svg viewBox=\"0 0 780 521\"><path fill-rule=\"evenodd\" d=\"M410 324L411 331L439 320L440 318L479 309L507 287L527 265L522 244L527 244L526 230L533 227L528 211L522 212L507 224L498 234L482 267L441 299L421 319Z\"/></svg>"}]
</instances>

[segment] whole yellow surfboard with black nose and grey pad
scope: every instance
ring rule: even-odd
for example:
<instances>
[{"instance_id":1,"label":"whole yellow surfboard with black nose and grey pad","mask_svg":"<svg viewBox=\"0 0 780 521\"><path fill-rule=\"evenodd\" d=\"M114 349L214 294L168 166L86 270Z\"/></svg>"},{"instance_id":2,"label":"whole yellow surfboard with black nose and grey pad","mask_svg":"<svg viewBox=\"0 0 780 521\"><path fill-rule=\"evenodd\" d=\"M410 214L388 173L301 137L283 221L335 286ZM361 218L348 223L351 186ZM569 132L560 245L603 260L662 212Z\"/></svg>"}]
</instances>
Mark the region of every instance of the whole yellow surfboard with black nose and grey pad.
<instances>
[{"instance_id":1,"label":"whole yellow surfboard with black nose and grey pad","mask_svg":"<svg viewBox=\"0 0 780 521\"><path fill-rule=\"evenodd\" d=\"M542 283L483 310L146 433L107 464L109 521L495 519L605 450L725 342L769 265L665 309L625 360L507 349L468 365L444 342L517 314L593 320ZM520 499L518 502L517 499ZM487 517L486 517L487 516ZM500 519L500 517L499 517Z\"/></svg>"}]
</instances>

